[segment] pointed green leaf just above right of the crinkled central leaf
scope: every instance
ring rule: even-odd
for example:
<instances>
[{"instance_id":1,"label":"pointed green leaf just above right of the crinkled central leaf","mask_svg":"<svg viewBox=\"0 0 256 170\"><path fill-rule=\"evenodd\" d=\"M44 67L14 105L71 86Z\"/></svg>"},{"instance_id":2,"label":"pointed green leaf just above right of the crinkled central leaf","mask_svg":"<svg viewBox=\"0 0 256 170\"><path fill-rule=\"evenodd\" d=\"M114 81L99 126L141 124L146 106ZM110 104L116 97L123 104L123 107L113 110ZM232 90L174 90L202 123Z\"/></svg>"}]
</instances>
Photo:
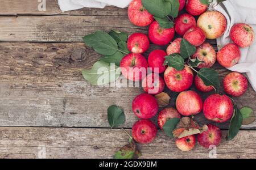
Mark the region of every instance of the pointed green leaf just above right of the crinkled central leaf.
<instances>
[{"instance_id":1,"label":"pointed green leaf just above right of the crinkled central leaf","mask_svg":"<svg viewBox=\"0 0 256 170\"><path fill-rule=\"evenodd\" d=\"M180 42L180 55L186 59L196 53L196 47L190 44L187 40L182 39Z\"/></svg>"}]
</instances>

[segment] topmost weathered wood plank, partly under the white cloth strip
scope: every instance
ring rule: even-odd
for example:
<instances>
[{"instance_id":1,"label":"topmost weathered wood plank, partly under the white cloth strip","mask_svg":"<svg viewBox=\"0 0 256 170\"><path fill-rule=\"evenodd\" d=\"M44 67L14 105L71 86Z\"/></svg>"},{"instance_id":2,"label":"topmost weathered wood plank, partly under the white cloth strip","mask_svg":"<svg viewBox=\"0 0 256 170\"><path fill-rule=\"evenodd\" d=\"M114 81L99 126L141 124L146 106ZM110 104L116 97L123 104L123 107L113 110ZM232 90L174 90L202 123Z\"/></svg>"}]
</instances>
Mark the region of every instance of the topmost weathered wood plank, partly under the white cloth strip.
<instances>
[{"instance_id":1,"label":"topmost weathered wood plank, partly under the white cloth strip","mask_svg":"<svg viewBox=\"0 0 256 170\"><path fill-rule=\"evenodd\" d=\"M61 12L57 0L47 0L46 10L40 2L31 0L1 0L0 15L112 15L126 16L127 9L113 6L100 8L82 8L80 10Z\"/></svg>"}]
</instances>

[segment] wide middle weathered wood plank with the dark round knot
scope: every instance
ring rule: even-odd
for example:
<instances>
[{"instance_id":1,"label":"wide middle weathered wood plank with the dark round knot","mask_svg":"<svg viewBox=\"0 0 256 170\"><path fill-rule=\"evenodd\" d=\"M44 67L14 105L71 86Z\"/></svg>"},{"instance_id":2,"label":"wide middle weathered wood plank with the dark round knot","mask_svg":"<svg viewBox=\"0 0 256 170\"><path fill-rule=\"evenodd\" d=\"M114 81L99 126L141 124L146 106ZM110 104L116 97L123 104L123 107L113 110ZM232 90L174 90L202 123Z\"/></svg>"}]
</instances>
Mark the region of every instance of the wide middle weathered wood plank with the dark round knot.
<instances>
[{"instance_id":1,"label":"wide middle weathered wood plank with the dark round knot","mask_svg":"<svg viewBox=\"0 0 256 170\"><path fill-rule=\"evenodd\" d=\"M151 46L145 56L156 48ZM86 55L81 57L82 53ZM109 127L106 111L112 104L125 110L123 127L131 128L137 120L131 102L141 88L101 88L86 82L81 70L90 68L100 55L83 43L1 42L0 58L1 126ZM221 79L229 73L218 64L214 68ZM208 95L202 94L204 99ZM251 86L235 101L256 111ZM196 119L207 122L203 114ZM218 126L227 129L228 123ZM256 123L243 128L256 129Z\"/></svg>"}]
</instances>

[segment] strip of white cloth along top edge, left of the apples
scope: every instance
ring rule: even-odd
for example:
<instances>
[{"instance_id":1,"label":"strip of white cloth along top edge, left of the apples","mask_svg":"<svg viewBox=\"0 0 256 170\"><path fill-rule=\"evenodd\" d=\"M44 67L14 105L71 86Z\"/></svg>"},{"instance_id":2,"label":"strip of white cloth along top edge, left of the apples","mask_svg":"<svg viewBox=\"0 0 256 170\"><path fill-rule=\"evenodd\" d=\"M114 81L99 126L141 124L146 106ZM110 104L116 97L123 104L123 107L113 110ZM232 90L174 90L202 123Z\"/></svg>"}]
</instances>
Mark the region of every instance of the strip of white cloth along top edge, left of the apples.
<instances>
[{"instance_id":1,"label":"strip of white cloth along top edge, left of the apples","mask_svg":"<svg viewBox=\"0 0 256 170\"><path fill-rule=\"evenodd\" d=\"M106 5L113 5L125 8L131 0L58 0L61 11L77 10L83 7L104 8Z\"/></svg>"}]
</instances>

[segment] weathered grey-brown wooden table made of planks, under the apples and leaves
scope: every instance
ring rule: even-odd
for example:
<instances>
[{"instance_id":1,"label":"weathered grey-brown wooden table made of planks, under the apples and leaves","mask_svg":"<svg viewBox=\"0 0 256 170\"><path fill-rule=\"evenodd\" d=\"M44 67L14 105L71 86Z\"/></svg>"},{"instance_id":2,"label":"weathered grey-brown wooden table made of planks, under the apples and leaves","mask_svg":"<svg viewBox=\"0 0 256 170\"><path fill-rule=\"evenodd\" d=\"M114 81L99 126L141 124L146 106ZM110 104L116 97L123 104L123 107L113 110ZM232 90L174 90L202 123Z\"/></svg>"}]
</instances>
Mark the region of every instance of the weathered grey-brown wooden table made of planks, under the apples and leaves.
<instances>
[{"instance_id":1,"label":"weathered grey-brown wooden table made of planks, under the apples and leaves","mask_svg":"<svg viewBox=\"0 0 256 170\"><path fill-rule=\"evenodd\" d=\"M38 5L38 1L1 0L0 158L40 158L42 150L46 158L112 158L128 137L121 129L110 130L106 111L112 104L122 107L123 128L130 133L137 120L131 102L142 90L100 88L86 82L81 70L101 56L86 47L82 37L98 29L147 33L147 28L132 25L127 9L62 13L57 1L47 0L46 11L39 11ZM215 41L209 42L216 48ZM156 48L151 45L148 53ZM229 73L218 64L214 68L221 79ZM239 107L256 111L251 86L234 100ZM202 114L196 120L208 122ZM255 122L242 126L229 142L224 139L228 123L218 126L224 131L217 158L256 158ZM181 152L160 130L154 142L139 147L141 158L208 158L209 154L198 144L191 152Z\"/></svg>"}]
</instances>

